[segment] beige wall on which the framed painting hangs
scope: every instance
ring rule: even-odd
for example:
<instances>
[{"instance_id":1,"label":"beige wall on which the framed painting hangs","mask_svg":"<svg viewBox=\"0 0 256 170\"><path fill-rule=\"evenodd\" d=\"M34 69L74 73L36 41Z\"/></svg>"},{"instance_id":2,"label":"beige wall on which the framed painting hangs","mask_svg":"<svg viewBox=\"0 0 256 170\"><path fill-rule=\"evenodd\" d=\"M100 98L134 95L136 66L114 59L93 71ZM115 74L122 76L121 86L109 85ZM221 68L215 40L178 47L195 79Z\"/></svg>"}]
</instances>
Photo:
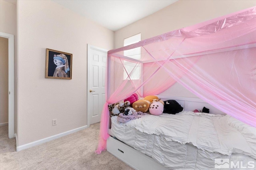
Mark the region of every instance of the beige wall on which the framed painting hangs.
<instances>
[{"instance_id":1,"label":"beige wall on which the framed painting hangs","mask_svg":"<svg viewBox=\"0 0 256 170\"><path fill-rule=\"evenodd\" d=\"M87 125L87 44L113 49L114 32L49 0L18 1L17 12L21 146ZM73 54L72 80L44 77L46 48Z\"/></svg>"}]
</instances>

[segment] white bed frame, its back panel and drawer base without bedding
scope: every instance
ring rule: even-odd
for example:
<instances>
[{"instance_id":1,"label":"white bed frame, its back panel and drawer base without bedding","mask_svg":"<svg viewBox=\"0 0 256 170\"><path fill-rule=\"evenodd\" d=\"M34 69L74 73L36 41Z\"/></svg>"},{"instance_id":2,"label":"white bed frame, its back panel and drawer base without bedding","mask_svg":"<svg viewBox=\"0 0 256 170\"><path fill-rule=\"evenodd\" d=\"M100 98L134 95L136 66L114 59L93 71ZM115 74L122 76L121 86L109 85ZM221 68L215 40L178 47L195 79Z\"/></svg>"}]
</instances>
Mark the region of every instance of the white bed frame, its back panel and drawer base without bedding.
<instances>
[{"instance_id":1,"label":"white bed frame, its back panel and drawer base without bedding","mask_svg":"<svg viewBox=\"0 0 256 170\"><path fill-rule=\"evenodd\" d=\"M163 95L157 96L163 101L176 100L184 108L184 111L193 111L194 109L202 111L203 107L206 107L210 109L210 113L212 114L226 115L219 109L216 109L199 98L183 98ZM110 134L110 137L107 140L107 151L132 168L136 170L167 170L167 168L156 162L154 159L116 139L110 129L108 129L108 134Z\"/></svg>"}]
</instances>

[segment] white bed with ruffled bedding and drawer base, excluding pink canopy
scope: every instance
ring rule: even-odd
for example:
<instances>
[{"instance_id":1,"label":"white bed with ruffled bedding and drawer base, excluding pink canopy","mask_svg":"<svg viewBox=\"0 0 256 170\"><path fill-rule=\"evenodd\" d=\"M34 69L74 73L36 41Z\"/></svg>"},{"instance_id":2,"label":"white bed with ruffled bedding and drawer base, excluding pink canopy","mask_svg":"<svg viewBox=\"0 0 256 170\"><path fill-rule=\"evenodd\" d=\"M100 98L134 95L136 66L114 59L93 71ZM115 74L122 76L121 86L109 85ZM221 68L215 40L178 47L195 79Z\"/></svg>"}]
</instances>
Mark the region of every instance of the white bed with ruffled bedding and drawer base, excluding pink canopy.
<instances>
[{"instance_id":1,"label":"white bed with ruffled bedding and drawer base, excluding pink canopy","mask_svg":"<svg viewBox=\"0 0 256 170\"><path fill-rule=\"evenodd\" d=\"M242 160L246 167L252 161L249 165L255 169L256 128L196 98L160 97L179 99L184 111L144 115L127 123L113 116L108 152L140 170L218 169L219 159L236 160L235 164ZM210 113L188 111L204 106L210 107Z\"/></svg>"}]
</instances>

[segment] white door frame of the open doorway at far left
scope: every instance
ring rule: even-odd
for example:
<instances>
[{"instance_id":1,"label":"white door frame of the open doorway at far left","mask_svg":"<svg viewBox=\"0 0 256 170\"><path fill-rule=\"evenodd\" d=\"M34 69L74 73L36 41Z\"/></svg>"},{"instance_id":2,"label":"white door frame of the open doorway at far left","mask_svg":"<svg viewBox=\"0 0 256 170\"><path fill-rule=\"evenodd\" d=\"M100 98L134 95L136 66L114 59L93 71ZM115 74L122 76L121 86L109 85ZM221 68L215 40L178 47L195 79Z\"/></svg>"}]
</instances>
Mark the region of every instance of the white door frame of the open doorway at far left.
<instances>
[{"instance_id":1,"label":"white door frame of the open doorway at far left","mask_svg":"<svg viewBox=\"0 0 256 170\"><path fill-rule=\"evenodd\" d=\"M14 138L14 35L0 32L8 39L8 137Z\"/></svg>"}]
</instances>

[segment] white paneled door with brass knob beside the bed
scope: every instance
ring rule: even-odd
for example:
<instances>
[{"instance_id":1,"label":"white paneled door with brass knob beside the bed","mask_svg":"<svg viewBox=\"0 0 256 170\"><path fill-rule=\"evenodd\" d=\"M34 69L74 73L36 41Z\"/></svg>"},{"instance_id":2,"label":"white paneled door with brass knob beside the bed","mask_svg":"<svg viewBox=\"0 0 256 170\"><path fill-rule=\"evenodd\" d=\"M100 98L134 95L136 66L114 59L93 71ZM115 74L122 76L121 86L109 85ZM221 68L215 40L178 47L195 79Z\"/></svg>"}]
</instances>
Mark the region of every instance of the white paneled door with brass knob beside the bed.
<instances>
[{"instance_id":1,"label":"white paneled door with brass knob beside the bed","mask_svg":"<svg viewBox=\"0 0 256 170\"><path fill-rule=\"evenodd\" d=\"M100 122L105 99L107 50L88 44L88 124Z\"/></svg>"}]
</instances>

